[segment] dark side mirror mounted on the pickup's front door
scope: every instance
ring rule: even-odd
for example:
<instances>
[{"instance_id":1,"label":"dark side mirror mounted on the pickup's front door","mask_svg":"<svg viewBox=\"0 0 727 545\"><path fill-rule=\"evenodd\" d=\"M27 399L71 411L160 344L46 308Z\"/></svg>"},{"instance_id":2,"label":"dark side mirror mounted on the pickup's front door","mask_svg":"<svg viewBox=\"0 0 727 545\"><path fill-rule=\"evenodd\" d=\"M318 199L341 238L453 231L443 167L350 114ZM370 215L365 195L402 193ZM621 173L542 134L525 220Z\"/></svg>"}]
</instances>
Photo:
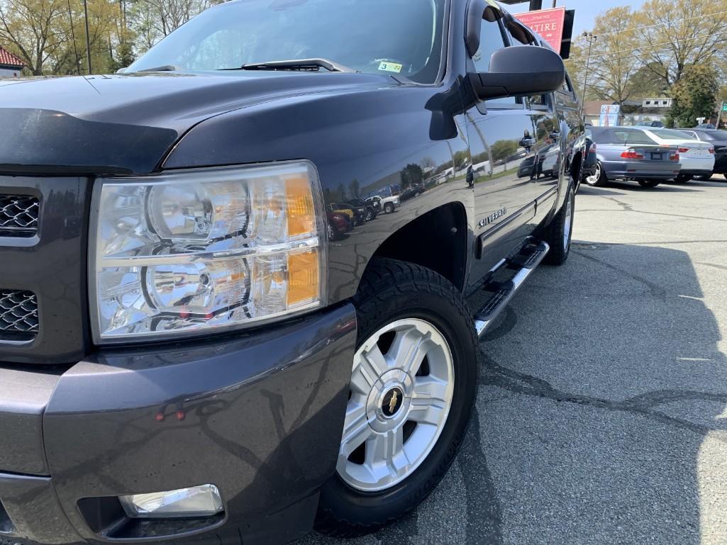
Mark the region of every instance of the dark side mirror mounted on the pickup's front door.
<instances>
[{"instance_id":1,"label":"dark side mirror mounted on the pickup's front door","mask_svg":"<svg viewBox=\"0 0 727 545\"><path fill-rule=\"evenodd\" d=\"M489 72L468 77L480 100L527 96L560 89L566 66L558 53L545 47L505 47L490 57Z\"/></svg>"}]
</instances>

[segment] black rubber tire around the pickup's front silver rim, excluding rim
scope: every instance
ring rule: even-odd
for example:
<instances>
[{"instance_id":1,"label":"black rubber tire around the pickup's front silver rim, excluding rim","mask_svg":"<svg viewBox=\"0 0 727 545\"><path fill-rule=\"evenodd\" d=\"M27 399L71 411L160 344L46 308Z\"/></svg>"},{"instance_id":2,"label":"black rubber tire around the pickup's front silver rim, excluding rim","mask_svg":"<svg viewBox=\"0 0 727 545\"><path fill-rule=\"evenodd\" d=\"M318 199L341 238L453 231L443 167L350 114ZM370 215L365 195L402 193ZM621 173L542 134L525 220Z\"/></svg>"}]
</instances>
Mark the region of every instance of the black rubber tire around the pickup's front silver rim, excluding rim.
<instances>
[{"instance_id":1,"label":"black rubber tire around the pickup's front silver rim, excluding rim","mask_svg":"<svg viewBox=\"0 0 727 545\"><path fill-rule=\"evenodd\" d=\"M429 496L454 461L467 432L480 363L479 344L465 299L449 280L432 270L395 259L375 259L361 280L353 304L358 318L358 346L395 320L427 320L449 343L456 379L441 435L411 475L384 491L362 492L336 473L321 489L315 528L340 538L371 533Z\"/></svg>"}]
</instances>

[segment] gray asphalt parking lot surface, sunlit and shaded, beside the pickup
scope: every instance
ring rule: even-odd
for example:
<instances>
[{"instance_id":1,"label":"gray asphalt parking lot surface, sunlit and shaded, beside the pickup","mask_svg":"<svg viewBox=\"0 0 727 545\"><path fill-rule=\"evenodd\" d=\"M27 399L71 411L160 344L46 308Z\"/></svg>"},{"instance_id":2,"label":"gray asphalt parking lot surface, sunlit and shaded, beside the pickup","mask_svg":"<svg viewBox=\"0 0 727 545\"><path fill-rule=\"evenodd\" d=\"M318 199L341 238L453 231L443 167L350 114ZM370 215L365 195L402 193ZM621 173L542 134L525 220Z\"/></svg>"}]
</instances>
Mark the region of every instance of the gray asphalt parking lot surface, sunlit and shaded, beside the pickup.
<instances>
[{"instance_id":1,"label":"gray asphalt parking lot surface, sunlit and shaded, beside the pickup","mask_svg":"<svg viewBox=\"0 0 727 545\"><path fill-rule=\"evenodd\" d=\"M723 177L582 187L569 261L482 344L443 483L378 533L300 545L727 544L726 286Z\"/></svg>"}]
</instances>

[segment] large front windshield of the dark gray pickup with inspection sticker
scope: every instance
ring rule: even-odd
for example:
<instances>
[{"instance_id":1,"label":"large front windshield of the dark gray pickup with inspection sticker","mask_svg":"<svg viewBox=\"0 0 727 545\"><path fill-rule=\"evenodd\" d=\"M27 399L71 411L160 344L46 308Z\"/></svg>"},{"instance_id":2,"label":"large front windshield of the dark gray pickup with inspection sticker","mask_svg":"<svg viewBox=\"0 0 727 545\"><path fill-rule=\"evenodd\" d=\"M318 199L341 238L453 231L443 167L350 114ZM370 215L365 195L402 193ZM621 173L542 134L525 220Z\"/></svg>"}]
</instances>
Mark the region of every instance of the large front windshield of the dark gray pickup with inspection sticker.
<instances>
[{"instance_id":1,"label":"large front windshield of the dark gray pickup with inspection sticker","mask_svg":"<svg viewBox=\"0 0 727 545\"><path fill-rule=\"evenodd\" d=\"M446 0L238 0L207 9L126 71L222 70L326 59L365 73L437 79ZM321 71L325 71L321 69Z\"/></svg>"}]
</instances>

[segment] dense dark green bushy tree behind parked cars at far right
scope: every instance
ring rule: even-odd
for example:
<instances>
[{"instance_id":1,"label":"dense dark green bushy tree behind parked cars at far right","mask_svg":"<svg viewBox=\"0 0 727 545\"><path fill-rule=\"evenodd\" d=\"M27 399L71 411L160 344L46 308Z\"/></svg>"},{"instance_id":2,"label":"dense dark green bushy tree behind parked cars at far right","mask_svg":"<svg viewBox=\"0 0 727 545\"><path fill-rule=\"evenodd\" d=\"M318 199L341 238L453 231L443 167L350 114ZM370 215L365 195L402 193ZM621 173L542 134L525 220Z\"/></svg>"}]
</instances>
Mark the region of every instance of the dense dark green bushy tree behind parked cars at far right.
<instances>
[{"instance_id":1,"label":"dense dark green bushy tree behind parked cars at far right","mask_svg":"<svg viewBox=\"0 0 727 545\"><path fill-rule=\"evenodd\" d=\"M686 65L682 77L672 86L669 126L694 126L696 118L710 118L715 112L719 84L710 65Z\"/></svg>"}]
</instances>

